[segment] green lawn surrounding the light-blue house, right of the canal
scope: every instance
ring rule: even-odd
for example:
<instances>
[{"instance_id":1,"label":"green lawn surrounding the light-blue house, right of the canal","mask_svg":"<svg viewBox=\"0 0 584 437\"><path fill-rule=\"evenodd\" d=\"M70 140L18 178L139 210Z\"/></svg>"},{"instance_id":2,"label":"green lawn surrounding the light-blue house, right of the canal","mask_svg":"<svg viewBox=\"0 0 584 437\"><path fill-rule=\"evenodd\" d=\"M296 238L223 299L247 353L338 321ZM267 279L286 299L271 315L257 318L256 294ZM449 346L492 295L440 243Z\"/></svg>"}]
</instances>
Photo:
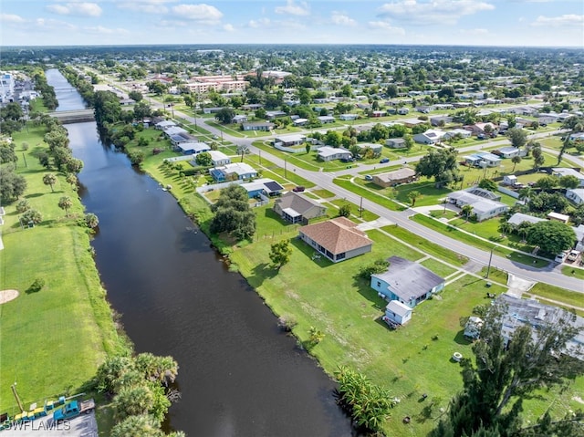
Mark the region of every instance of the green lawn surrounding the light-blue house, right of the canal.
<instances>
[{"instance_id":1,"label":"green lawn surrounding the light-blue house, right of the canal","mask_svg":"<svg viewBox=\"0 0 584 437\"><path fill-rule=\"evenodd\" d=\"M416 307L408 325L391 331L380 321L386 302L355 274L360 266L381 257L400 255L415 260L421 254L379 231L369 235L375 242L370 254L338 265L324 258L313 261L314 250L297 239L292 240L290 262L279 271L268 266L271 239L236 249L231 257L276 315L297 321L294 333L300 342L308 340L312 326L325 333L310 352L328 374L341 364L348 365L401 400L385 426L387 435L425 435L435 426L438 408L445 408L462 387L460 367L451 357L454 352L469 357L471 349L462 336L459 318L486 302L486 290L499 294L505 288L496 284L487 288L484 280L463 276L446 286L438 298ZM422 264L442 274L452 273L452 268L429 261ZM431 417L423 414L422 393L441 400ZM562 395L544 394L546 399L526 402L526 409L535 414L546 408L550 397L563 407L573 395L573 390ZM554 413L559 410L553 409ZM412 417L407 428L401 422L406 415ZM527 419L533 418L527 415Z\"/></svg>"}]
</instances>

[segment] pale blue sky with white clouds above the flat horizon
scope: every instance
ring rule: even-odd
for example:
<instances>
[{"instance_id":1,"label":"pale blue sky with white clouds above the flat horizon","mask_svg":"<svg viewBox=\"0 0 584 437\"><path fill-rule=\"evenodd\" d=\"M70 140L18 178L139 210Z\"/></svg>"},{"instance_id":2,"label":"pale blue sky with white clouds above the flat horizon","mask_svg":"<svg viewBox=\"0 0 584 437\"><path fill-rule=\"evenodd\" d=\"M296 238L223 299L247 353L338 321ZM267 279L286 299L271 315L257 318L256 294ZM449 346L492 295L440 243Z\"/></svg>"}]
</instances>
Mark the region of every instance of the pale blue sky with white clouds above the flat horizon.
<instances>
[{"instance_id":1,"label":"pale blue sky with white clouds above the flat horizon","mask_svg":"<svg viewBox=\"0 0 584 437\"><path fill-rule=\"evenodd\" d=\"M2 46L580 47L582 0L0 0Z\"/></svg>"}]
</instances>

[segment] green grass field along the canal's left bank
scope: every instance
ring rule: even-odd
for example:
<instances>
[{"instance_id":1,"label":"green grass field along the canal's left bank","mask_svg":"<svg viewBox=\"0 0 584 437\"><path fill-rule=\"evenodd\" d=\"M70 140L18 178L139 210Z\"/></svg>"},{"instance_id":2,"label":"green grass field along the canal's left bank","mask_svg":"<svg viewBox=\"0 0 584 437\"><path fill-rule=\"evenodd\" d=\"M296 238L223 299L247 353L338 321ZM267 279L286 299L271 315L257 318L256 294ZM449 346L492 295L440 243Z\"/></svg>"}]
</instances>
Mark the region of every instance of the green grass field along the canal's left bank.
<instances>
[{"instance_id":1,"label":"green grass field along the canal's left bank","mask_svg":"<svg viewBox=\"0 0 584 437\"><path fill-rule=\"evenodd\" d=\"M77 192L57 176L54 191L42 182L47 170L36 159L44 150L44 130L13 135L26 177L23 198L42 213L43 222L22 228L15 203L5 203L0 251L0 289L16 289L20 296L0 306L0 411L15 412L10 390L17 382L26 405L63 393L75 393L94 374L106 353L127 350L112 320L98 271L89 251L89 234L78 219L83 207ZM29 144L22 150L22 142ZM55 171L51 171L57 173ZM73 206L69 216L58 208L60 197ZM30 289L36 278L45 286Z\"/></svg>"}]
</instances>

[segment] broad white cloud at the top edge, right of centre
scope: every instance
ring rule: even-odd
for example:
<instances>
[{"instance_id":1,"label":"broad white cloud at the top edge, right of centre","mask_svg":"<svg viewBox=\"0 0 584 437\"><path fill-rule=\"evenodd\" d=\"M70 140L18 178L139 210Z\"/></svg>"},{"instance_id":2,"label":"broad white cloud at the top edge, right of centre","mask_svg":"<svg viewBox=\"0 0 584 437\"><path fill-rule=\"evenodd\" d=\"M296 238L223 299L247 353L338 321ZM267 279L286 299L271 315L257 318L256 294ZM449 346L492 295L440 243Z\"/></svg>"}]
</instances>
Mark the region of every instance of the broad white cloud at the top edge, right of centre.
<instances>
[{"instance_id":1,"label":"broad white cloud at the top edge, right of centre","mask_svg":"<svg viewBox=\"0 0 584 437\"><path fill-rule=\"evenodd\" d=\"M461 16L471 16L491 11L494 5L480 0L433 0L429 3L416 0L399 0L379 8L380 16L389 16L418 25L453 25Z\"/></svg>"}]
</instances>

